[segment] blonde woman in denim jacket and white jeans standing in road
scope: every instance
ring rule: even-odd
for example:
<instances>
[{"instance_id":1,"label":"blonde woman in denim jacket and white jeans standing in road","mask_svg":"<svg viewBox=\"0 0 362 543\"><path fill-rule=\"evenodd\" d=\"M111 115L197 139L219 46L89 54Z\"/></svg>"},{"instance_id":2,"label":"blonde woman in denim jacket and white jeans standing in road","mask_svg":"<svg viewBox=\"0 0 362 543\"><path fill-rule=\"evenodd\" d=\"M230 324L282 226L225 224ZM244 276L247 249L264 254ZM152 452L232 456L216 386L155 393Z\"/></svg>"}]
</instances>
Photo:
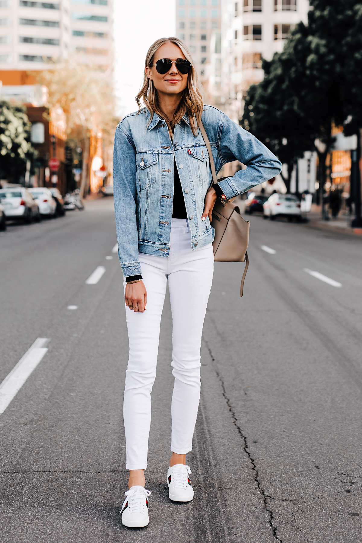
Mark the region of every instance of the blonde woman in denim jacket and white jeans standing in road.
<instances>
[{"instance_id":1,"label":"blonde woman in denim jacket and white jeans standing in road","mask_svg":"<svg viewBox=\"0 0 362 543\"><path fill-rule=\"evenodd\" d=\"M149 48L136 100L139 111L116 130L113 173L130 346L123 409L130 476L121 511L123 524L130 527L149 522L143 470L167 281L175 377L167 484L171 500L186 502L194 496L186 453L192 450L200 399L201 333L213 275L212 209L218 197L233 198L281 170L255 137L203 105L191 55L174 37ZM247 165L215 187L198 129L201 118L217 172L233 160Z\"/></svg>"}]
</instances>

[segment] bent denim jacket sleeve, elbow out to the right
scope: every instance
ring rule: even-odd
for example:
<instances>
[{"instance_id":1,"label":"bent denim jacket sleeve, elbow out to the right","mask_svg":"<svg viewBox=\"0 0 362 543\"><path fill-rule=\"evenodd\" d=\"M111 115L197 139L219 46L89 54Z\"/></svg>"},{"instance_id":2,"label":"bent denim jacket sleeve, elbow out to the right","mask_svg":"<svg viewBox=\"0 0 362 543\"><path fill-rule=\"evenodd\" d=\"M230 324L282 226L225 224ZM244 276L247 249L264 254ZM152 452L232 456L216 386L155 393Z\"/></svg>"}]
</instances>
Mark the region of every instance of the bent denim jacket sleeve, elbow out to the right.
<instances>
[{"instance_id":1,"label":"bent denim jacket sleeve, elbow out to the right","mask_svg":"<svg viewBox=\"0 0 362 543\"><path fill-rule=\"evenodd\" d=\"M239 160L246 165L246 169L219 182L226 198L242 194L282 171L282 163L277 157L227 115L220 132L219 153L222 164Z\"/></svg>"}]
</instances>

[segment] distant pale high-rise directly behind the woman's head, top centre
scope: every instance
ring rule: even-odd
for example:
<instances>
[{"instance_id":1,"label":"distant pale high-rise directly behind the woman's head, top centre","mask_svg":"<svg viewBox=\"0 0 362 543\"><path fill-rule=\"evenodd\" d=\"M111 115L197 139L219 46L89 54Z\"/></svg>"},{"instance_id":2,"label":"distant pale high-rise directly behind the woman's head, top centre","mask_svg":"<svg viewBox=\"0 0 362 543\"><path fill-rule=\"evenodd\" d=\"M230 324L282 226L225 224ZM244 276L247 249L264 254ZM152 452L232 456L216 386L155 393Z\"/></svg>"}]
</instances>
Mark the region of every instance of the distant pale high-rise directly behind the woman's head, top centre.
<instances>
[{"instance_id":1,"label":"distant pale high-rise directly behind the woman's head, top centre","mask_svg":"<svg viewBox=\"0 0 362 543\"><path fill-rule=\"evenodd\" d=\"M199 79L208 80L213 36L220 33L221 0L176 0L176 35L193 56Z\"/></svg>"}]
</instances>

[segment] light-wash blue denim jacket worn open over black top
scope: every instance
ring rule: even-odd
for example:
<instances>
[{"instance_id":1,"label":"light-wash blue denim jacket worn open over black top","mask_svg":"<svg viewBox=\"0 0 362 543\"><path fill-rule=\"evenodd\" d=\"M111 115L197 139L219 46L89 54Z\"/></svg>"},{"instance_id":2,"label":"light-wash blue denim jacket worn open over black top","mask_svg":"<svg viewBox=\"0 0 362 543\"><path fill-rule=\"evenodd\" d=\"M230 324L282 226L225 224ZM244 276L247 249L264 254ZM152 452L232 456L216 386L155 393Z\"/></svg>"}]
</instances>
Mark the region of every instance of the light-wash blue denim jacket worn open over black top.
<instances>
[{"instance_id":1,"label":"light-wash blue denim jacket worn open over black top","mask_svg":"<svg viewBox=\"0 0 362 543\"><path fill-rule=\"evenodd\" d=\"M208 153L198 130L195 137L187 115L175 126L154 115L148 128L147 109L131 113L118 124L113 155L118 258L125 277L141 274L138 252L166 257L172 222L174 157L179 172L194 250L211 243L208 217L201 220L204 199L212 184ZM225 113L204 106L202 123L211 143L215 169L239 160L247 166L220 181L227 198L246 192L280 173L282 165L271 151Z\"/></svg>"}]
</instances>

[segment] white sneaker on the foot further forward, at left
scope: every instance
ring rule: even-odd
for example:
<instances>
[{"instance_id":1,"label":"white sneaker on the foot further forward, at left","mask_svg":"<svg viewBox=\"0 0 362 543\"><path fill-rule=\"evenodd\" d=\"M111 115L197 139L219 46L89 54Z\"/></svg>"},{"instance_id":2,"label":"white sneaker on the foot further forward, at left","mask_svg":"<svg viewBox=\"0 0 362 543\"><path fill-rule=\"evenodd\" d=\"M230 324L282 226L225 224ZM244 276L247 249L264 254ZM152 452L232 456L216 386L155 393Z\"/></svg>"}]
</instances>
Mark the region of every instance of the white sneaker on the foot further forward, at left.
<instances>
[{"instance_id":1,"label":"white sneaker on the foot further forward, at left","mask_svg":"<svg viewBox=\"0 0 362 543\"><path fill-rule=\"evenodd\" d=\"M139 485L131 487L124 493L126 499L124 500L122 511L122 524L129 528L142 528L147 526L149 522L148 517L148 496L149 490L145 490Z\"/></svg>"}]
</instances>

